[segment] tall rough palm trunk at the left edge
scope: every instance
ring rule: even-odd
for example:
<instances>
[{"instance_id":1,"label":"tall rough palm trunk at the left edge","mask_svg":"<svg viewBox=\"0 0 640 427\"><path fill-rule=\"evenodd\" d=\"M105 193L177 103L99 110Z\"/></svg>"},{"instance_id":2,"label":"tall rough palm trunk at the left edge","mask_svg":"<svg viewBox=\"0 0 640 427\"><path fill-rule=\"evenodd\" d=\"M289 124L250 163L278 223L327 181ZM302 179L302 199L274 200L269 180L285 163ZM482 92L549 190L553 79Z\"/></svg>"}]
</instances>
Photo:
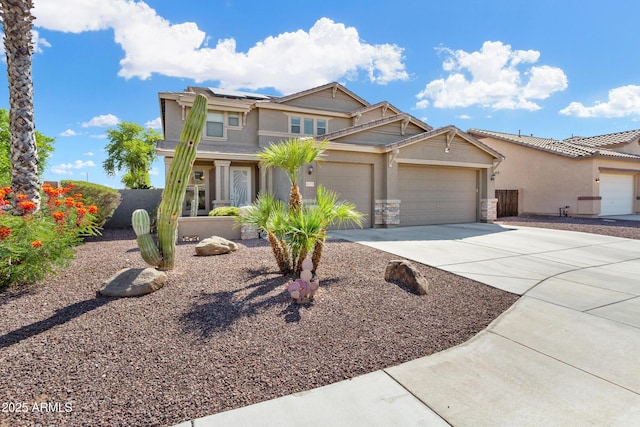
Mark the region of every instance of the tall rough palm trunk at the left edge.
<instances>
[{"instance_id":1,"label":"tall rough palm trunk at the left edge","mask_svg":"<svg viewBox=\"0 0 640 427\"><path fill-rule=\"evenodd\" d=\"M11 187L25 194L40 208L38 150L33 118L32 0L0 0L4 49L9 80L9 122L11 132ZM14 204L16 198L13 199ZM14 205L16 212L21 213Z\"/></svg>"}]
</instances>

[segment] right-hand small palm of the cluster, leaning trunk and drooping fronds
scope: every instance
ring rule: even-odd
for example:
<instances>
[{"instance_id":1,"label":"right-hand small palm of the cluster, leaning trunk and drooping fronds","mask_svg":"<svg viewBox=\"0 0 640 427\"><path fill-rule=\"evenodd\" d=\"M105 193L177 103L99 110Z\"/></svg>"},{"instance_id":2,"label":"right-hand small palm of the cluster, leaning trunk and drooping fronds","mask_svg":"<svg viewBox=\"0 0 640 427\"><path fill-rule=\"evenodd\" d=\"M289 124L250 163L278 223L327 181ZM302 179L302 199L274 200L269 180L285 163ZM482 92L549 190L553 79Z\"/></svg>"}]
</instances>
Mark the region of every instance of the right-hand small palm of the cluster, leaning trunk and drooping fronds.
<instances>
[{"instance_id":1,"label":"right-hand small palm of the cluster, leaning trunk and drooping fronds","mask_svg":"<svg viewBox=\"0 0 640 427\"><path fill-rule=\"evenodd\" d=\"M322 258L327 228L334 224L338 224L338 227L343 225L362 227L364 219L364 214L356 210L355 204L347 201L339 202L338 194L335 191L327 190L322 185L318 186L314 209L318 211L321 227L311 255L311 261L313 262L311 272L313 274L316 273L320 258Z\"/></svg>"}]
</instances>

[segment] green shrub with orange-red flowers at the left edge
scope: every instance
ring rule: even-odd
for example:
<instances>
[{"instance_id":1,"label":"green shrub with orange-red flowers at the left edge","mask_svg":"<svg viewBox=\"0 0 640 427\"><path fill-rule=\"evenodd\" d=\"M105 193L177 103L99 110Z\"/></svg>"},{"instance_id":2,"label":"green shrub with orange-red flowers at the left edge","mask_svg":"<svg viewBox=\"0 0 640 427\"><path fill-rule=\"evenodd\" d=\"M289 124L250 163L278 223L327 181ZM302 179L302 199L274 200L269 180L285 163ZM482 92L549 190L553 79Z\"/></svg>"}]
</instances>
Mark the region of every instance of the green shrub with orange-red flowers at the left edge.
<instances>
[{"instance_id":1,"label":"green shrub with orange-red flowers at the left edge","mask_svg":"<svg viewBox=\"0 0 640 427\"><path fill-rule=\"evenodd\" d=\"M13 215L6 197L10 188L0 189L0 288L14 283L41 280L55 267L65 267L73 258L74 246L82 236L98 234L98 208L85 205L73 186L43 186L46 202L32 213L35 204L23 194L15 195L23 216Z\"/></svg>"}]
</instances>

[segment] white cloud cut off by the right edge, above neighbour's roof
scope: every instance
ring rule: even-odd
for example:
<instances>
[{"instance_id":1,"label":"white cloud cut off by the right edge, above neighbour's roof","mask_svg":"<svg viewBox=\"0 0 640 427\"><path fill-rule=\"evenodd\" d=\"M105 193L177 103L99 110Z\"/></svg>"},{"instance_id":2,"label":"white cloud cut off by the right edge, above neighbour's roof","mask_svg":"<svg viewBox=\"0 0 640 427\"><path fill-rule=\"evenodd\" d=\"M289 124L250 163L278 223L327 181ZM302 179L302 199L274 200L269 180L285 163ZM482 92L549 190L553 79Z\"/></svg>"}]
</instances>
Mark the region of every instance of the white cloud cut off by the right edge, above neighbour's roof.
<instances>
[{"instance_id":1,"label":"white cloud cut off by the right edge, above neighbour's roof","mask_svg":"<svg viewBox=\"0 0 640 427\"><path fill-rule=\"evenodd\" d=\"M609 91L607 102L586 107L581 102L572 102L560 110L560 114L575 117L625 117L640 114L640 86L621 86Z\"/></svg>"}]
</instances>

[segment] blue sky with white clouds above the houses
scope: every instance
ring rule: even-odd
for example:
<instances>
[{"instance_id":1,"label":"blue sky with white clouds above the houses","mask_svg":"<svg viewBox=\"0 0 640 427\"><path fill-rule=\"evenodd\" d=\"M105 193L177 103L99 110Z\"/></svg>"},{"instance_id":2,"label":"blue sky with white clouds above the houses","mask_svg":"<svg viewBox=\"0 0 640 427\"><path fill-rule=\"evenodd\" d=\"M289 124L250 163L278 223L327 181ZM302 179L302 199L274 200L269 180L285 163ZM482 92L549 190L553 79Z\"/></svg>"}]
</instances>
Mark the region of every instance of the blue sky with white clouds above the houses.
<instances>
[{"instance_id":1,"label":"blue sky with white clouds above the houses","mask_svg":"<svg viewBox=\"0 0 640 427\"><path fill-rule=\"evenodd\" d=\"M159 129L158 92L189 85L287 95L338 81L434 127L556 139L640 128L640 2L34 4L36 128L56 139L47 180L122 188L102 169L105 131ZM161 161L152 184L164 186Z\"/></svg>"}]
</instances>

